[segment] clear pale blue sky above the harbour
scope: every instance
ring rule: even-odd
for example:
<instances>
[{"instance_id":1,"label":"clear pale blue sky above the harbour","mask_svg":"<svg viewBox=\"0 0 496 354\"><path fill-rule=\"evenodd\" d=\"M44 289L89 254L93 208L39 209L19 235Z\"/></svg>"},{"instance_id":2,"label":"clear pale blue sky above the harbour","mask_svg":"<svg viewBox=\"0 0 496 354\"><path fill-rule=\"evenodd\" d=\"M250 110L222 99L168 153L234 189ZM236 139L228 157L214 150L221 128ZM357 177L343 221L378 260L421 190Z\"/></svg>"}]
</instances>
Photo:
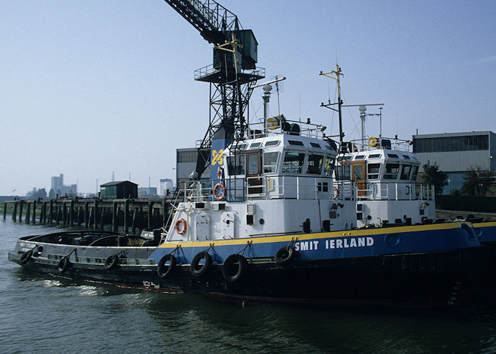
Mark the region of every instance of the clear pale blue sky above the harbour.
<instances>
[{"instance_id":1,"label":"clear pale blue sky above the harbour","mask_svg":"<svg viewBox=\"0 0 496 354\"><path fill-rule=\"evenodd\" d=\"M271 115L337 135L320 107L335 81L319 73L338 63L344 104L385 104L384 137L496 132L494 0L218 2L253 30L264 81L287 78ZM0 195L48 191L60 173L80 193L113 171L141 187L175 180L176 149L208 127L209 85L193 72L211 63L212 45L162 0L0 0ZM358 108L343 126L360 137ZM368 118L367 135L378 130Z\"/></svg>"}]
</instances>

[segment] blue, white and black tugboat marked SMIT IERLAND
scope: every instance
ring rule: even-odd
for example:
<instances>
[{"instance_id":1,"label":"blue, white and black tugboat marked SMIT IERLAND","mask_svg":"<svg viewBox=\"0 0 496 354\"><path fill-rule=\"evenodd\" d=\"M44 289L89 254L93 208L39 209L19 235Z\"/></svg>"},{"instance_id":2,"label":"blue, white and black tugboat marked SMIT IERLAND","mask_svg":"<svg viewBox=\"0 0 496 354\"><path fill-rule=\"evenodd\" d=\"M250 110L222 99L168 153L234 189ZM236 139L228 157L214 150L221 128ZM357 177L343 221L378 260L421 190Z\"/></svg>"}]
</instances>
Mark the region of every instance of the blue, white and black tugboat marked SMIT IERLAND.
<instances>
[{"instance_id":1,"label":"blue, white and black tugboat marked SMIT IERLAND","mask_svg":"<svg viewBox=\"0 0 496 354\"><path fill-rule=\"evenodd\" d=\"M340 72L332 72L338 87ZM269 87L264 90L268 96ZM339 100L339 111L341 105ZM418 161L411 154L345 155L338 176L346 169L355 173L360 159L382 161L382 176L394 173L390 159L410 161L402 186L409 188L371 190L388 196L374 206L363 188L368 181L334 178L342 132L340 140L338 149L322 125L283 116L264 117L263 126L250 126L244 135L221 126L211 144L210 181L181 188L171 226L156 230L154 241L89 231L26 236L9 260L50 276L237 302L457 304L465 280L478 270L480 242L472 224L427 222L434 193L412 180ZM390 193L404 194L409 203ZM372 217L381 222L372 223Z\"/></svg>"}]
</instances>

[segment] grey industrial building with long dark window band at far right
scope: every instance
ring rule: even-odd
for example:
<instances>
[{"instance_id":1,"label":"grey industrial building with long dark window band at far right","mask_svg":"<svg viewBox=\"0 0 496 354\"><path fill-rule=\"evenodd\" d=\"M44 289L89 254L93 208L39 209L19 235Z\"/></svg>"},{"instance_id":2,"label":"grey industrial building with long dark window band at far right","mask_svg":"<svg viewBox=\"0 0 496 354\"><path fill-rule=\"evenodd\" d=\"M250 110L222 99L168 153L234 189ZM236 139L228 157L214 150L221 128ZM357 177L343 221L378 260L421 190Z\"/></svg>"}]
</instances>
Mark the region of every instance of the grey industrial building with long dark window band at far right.
<instances>
[{"instance_id":1,"label":"grey industrial building with long dark window band at far right","mask_svg":"<svg viewBox=\"0 0 496 354\"><path fill-rule=\"evenodd\" d=\"M496 134L494 132L456 132L413 136L413 153L422 166L436 162L448 174L448 185L443 194L460 189L466 171L480 167L483 171L496 171Z\"/></svg>"}]
</instances>

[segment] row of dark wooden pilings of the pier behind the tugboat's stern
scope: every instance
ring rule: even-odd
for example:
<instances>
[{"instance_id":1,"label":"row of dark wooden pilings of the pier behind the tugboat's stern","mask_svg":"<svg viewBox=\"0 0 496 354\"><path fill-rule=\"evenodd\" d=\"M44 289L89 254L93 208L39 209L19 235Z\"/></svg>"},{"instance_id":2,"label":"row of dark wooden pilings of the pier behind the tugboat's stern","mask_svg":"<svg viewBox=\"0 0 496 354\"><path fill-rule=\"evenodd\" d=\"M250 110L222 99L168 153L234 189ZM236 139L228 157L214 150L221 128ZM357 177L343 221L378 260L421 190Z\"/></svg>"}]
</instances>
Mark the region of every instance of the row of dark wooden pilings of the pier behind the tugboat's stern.
<instances>
[{"instance_id":1,"label":"row of dark wooden pilings of the pier behind the tugboat's stern","mask_svg":"<svg viewBox=\"0 0 496 354\"><path fill-rule=\"evenodd\" d=\"M4 220L11 206L14 222L30 224L59 225L103 229L111 225L114 232L119 227L125 234L129 229L152 229L167 222L167 210L171 200L155 199L52 199L52 200L11 200L4 202Z\"/></svg>"}]
</instances>

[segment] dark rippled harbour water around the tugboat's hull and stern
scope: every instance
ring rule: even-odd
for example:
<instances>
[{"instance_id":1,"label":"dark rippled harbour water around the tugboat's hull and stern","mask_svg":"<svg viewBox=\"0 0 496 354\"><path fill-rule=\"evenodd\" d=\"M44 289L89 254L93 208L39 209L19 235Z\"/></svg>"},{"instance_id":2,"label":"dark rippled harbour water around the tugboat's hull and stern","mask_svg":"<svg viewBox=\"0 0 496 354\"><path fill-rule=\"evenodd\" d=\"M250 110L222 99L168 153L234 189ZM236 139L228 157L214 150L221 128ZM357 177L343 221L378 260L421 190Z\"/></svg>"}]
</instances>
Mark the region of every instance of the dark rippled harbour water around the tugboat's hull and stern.
<instances>
[{"instance_id":1,"label":"dark rippled harbour water around the tugboat's hull and stern","mask_svg":"<svg viewBox=\"0 0 496 354\"><path fill-rule=\"evenodd\" d=\"M19 236L55 227L0 221L0 353L488 353L496 310L241 307L27 273Z\"/></svg>"}]
</instances>

